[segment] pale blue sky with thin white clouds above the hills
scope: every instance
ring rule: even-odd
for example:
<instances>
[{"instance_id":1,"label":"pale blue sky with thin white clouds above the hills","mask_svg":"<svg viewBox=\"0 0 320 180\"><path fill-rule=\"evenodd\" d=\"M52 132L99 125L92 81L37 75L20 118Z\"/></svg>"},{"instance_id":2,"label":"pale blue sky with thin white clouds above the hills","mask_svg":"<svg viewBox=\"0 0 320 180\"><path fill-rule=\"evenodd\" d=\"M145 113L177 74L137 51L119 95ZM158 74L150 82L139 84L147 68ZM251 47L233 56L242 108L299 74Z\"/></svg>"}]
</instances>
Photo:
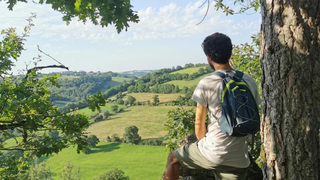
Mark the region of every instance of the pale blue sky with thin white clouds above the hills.
<instances>
[{"instance_id":1,"label":"pale blue sky with thin white clouds above the hills","mask_svg":"<svg viewBox=\"0 0 320 180\"><path fill-rule=\"evenodd\" d=\"M29 13L37 14L25 43L27 50L13 72L25 69L24 62L39 53L36 44L70 70L119 72L203 63L206 58L201 42L207 35L218 31L229 35L234 44L251 42L250 36L259 30L261 21L259 13L225 16L211 3L205 20L195 25L206 11L205 6L197 8L204 0L131 0L140 22L117 34L114 26L102 28L89 21L84 25L73 19L67 26L62 14L49 5L18 2L9 11L5 2L0 2L0 29L12 26L21 31ZM232 1L229 4L239 8ZM50 64L56 63L43 56L38 65Z\"/></svg>"}]
</instances>

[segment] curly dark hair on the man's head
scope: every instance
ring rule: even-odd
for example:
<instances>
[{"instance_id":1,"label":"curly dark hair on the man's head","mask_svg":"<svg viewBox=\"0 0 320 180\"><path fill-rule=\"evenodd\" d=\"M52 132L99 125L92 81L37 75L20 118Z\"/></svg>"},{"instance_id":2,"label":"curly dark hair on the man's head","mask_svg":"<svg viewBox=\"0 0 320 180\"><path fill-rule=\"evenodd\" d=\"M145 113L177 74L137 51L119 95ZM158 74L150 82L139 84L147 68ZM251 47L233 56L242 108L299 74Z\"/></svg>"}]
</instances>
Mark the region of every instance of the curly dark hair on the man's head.
<instances>
[{"instance_id":1,"label":"curly dark hair on the man's head","mask_svg":"<svg viewBox=\"0 0 320 180\"><path fill-rule=\"evenodd\" d=\"M232 53L232 43L227 35L215 32L205 37L201 46L205 55L210 56L215 63L228 63Z\"/></svg>"}]
</instances>

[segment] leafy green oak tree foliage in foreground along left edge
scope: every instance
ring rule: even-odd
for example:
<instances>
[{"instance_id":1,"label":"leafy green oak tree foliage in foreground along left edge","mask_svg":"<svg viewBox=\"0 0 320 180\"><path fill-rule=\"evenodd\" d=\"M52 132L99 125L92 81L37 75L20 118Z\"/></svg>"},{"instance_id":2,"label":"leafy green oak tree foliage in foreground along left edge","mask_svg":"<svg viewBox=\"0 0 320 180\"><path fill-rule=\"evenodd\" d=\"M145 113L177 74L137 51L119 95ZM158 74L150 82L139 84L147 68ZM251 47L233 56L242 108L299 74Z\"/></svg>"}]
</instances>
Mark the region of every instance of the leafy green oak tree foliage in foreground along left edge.
<instances>
[{"instance_id":1,"label":"leafy green oak tree foliage in foreground along left edge","mask_svg":"<svg viewBox=\"0 0 320 180\"><path fill-rule=\"evenodd\" d=\"M35 18L34 14L27 19L28 25L22 35L18 35L15 28L1 31L0 136L9 137L14 129L21 129L21 134L20 138L14 138L12 146L4 146L4 142L0 141L0 150L25 151L20 159L16 156L0 158L1 179L24 179L21 175L27 170L27 162L34 155L58 153L70 145L75 145L79 153L86 146L84 131L89 126L86 115L77 109L60 112L51 100L54 95L48 87L59 87L56 82L59 75L43 74L41 79L37 78L39 69L68 67L57 61L59 65L38 66L37 62L41 60L41 55L38 55L34 58L35 66L26 67L26 74L11 75L12 66L24 50L23 44L33 26L32 18ZM99 105L105 104L101 92L89 96L87 100L92 111L99 111ZM50 134L53 130L59 130L63 135L56 138Z\"/></svg>"}]
</instances>

